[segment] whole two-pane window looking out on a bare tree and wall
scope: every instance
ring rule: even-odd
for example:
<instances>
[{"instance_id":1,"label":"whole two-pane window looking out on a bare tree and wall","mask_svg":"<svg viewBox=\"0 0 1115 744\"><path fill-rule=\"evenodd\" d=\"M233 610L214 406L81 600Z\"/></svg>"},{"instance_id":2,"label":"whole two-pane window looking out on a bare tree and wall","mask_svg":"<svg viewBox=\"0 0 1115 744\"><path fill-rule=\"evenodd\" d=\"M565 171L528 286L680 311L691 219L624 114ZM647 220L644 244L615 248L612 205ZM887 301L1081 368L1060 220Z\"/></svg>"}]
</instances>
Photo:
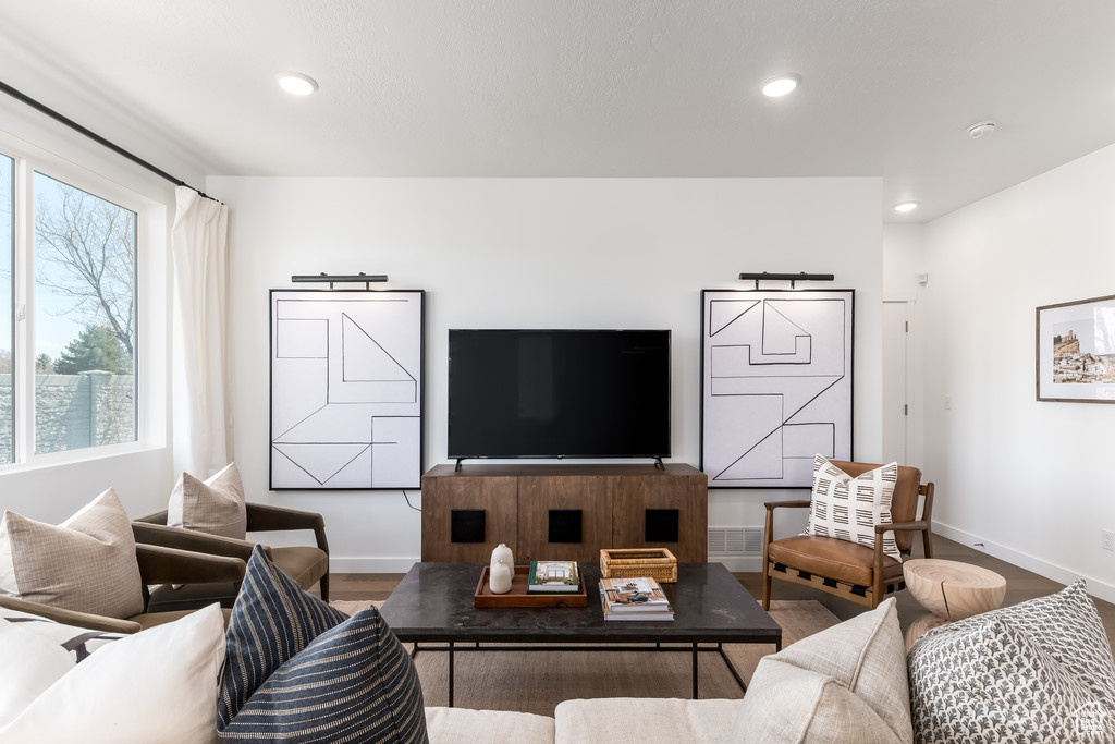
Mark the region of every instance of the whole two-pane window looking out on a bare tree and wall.
<instances>
[{"instance_id":1,"label":"whole two-pane window looking out on a bare tree and wall","mask_svg":"<svg viewBox=\"0 0 1115 744\"><path fill-rule=\"evenodd\" d=\"M18 155L0 170L0 465L134 443L138 210Z\"/></svg>"}]
</instances>

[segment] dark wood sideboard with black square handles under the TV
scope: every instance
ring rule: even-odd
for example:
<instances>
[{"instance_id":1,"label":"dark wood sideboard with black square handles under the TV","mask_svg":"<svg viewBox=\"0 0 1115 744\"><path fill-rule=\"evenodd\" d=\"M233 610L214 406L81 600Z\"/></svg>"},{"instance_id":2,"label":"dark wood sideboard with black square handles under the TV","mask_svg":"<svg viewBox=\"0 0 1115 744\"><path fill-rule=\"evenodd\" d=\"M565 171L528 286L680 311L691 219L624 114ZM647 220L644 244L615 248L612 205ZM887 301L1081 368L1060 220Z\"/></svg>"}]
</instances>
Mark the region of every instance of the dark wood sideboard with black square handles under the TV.
<instances>
[{"instance_id":1,"label":"dark wood sideboard with black square handles under the TV","mask_svg":"<svg viewBox=\"0 0 1115 744\"><path fill-rule=\"evenodd\" d=\"M708 476L691 465L436 465L421 479L423 561L595 562L601 548L708 560Z\"/></svg>"}]
</instances>

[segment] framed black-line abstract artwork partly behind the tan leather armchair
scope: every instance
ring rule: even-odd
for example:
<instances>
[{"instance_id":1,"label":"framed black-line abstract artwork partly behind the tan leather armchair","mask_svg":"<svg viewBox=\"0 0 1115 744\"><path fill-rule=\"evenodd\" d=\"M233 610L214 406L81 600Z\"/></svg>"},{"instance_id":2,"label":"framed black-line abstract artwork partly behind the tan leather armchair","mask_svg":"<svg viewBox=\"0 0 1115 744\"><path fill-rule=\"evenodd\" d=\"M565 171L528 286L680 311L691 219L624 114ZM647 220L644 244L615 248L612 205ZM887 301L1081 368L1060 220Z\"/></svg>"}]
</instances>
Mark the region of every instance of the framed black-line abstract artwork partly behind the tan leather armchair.
<instances>
[{"instance_id":1,"label":"framed black-line abstract artwork partly behind the tan leather armchair","mask_svg":"<svg viewBox=\"0 0 1115 744\"><path fill-rule=\"evenodd\" d=\"M853 290L701 292L709 487L809 487L852 457Z\"/></svg>"}]
</instances>

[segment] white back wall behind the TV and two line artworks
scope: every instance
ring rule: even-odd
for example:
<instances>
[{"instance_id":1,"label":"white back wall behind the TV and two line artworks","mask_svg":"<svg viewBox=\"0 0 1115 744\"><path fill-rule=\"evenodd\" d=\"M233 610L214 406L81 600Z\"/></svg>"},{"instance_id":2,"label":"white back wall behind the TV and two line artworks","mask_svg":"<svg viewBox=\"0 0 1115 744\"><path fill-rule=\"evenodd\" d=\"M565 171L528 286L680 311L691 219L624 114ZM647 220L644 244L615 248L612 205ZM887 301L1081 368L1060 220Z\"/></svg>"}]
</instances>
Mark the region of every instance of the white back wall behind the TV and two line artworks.
<instances>
[{"instance_id":1,"label":"white back wall behind the TV and two line artworks","mask_svg":"<svg viewBox=\"0 0 1115 744\"><path fill-rule=\"evenodd\" d=\"M399 571L420 515L399 492L266 492L268 289L387 273L425 289L426 466L446 462L449 328L669 328L673 462L697 464L700 290L740 271L817 271L856 290L855 452L878 456L879 178L234 178L235 456L250 499L324 515L336 571ZM763 523L769 491L712 491L714 525ZM801 497L802 492L784 494ZM418 504L418 493L410 494ZM753 570L758 569L755 561Z\"/></svg>"}]
</instances>

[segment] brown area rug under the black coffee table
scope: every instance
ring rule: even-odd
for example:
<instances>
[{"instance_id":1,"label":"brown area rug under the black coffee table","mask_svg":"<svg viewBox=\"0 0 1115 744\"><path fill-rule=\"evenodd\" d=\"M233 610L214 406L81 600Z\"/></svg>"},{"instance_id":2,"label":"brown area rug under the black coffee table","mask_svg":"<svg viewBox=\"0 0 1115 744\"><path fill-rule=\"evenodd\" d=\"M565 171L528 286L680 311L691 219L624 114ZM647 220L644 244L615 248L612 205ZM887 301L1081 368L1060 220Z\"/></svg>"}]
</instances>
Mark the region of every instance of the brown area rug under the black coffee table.
<instances>
[{"instance_id":1,"label":"brown area rug under the black coffee table","mask_svg":"<svg viewBox=\"0 0 1115 744\"><path fill-rule=\"evenodd\" d=\"M382 602L333 601L349 615ZM814 600L772 601L770 617L782 626L783 646L840 620ZM406 645L410 649L410 645ZM454 705L486 711L553 715L562 700L578 697L681 697L691 689L692 657L686 651L458 651L454 657ZM766 644L726 644L739 675L749 682ZM448 704L448 654L419 651L415 658L426 705ZM743 697L719 654L702 651L698 664L701 698Z\"/></svg>"}]
</instances>

